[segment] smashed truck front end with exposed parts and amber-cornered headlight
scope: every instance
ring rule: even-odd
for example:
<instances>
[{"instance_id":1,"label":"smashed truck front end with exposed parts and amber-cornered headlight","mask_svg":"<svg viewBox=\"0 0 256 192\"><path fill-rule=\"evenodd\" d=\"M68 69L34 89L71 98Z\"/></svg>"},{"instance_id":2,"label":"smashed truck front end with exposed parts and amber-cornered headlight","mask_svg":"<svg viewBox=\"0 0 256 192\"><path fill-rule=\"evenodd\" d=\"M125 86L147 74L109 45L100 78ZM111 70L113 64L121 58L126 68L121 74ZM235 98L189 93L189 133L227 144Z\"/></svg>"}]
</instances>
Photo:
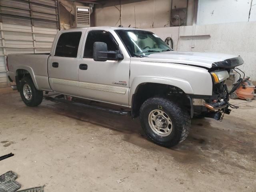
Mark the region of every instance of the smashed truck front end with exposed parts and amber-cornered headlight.
<instances>
[{"instance_id":1,"label":"smashed truck front end with exposed parts and amber-cornered headlight","mask_svg":"<svg viewBox=\"0 0 256 192\"><path fill-rule=\"evenodd\" d=\"M212 64L212 68L209 70L213 83L212 96L203 99L201 98L199 104L194 106L195 115L200 114L200 116L203 117L214 118L222 121L224 114L230 114L230 108L238 108L238 106L234 106L229 103L229 95L242 83L244 78L241 78L240 72L242 72L242 70L236 67L243 63L244 61L239 56L222 62L214 62ZM224 80L229 77L231 69L236 71L240 75L240 78L236 83L234 83L232 90L228 91ZM244 72L242 73L245 76ZM192 99L192 101L193 104L195 104L195 102L198 102L198 98Z\"/></svg>"}]
</instances>

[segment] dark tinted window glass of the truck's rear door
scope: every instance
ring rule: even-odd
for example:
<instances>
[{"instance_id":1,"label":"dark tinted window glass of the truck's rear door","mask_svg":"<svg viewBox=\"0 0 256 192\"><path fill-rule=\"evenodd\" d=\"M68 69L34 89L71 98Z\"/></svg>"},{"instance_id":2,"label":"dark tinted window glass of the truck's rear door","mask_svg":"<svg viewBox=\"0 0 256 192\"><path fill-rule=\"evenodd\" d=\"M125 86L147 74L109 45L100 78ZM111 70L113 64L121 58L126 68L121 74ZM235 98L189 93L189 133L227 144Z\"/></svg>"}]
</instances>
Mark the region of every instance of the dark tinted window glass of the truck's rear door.
<instances>
[{"instance_id":1,"label":"dark tinted window glass of the truck's rear door","mask_svg":"<svg viewBox=\"0 0 256 192\"><path fill-rule=\"evenodd\" d=\"M54 56L76 58L81 35L82 32L62 33L59 37Z\"/></svg>"}]
</instances>

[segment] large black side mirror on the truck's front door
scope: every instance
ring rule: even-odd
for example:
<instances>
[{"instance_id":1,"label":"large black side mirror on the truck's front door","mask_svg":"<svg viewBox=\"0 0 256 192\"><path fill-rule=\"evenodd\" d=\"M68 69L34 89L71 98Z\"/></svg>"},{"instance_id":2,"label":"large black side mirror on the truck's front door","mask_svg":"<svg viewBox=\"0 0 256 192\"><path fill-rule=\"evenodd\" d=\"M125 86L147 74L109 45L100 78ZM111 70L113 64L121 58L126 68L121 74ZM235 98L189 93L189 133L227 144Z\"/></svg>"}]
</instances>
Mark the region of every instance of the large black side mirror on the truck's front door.
<instances>
[{"instance_id":1,"label":"large black side mirror on the truck's front door","mask_svg":"<svg viewBox=\"0 0 256 192\"><path fill-rule=\"evenodd\" d=\"M124 55L119 51L108 51L108 46L104 42L94 42L93 44L93 60L106 61L106 60L123 60Z\"/></svg>"}]
</instances>

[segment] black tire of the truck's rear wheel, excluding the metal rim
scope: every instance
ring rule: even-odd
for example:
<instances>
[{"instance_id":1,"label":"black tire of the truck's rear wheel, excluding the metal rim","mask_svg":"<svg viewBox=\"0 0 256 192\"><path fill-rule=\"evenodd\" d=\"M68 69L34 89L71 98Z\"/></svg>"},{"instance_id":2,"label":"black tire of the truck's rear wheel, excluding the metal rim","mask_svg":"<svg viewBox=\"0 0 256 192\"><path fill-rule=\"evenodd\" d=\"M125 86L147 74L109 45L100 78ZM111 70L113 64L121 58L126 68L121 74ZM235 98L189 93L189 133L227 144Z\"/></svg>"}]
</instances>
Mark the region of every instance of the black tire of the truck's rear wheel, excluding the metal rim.
<instances>
[{"instance_id":1,"label":"black tire of the truck's rear wheel, excluding the metal rim","mask_svg":"<svg viewBox=\"0 0 256 192\"><path fill-rule=\"evenodd\" d=\"M31 88L32 97L30 100L26 99L23 91L23 87L25 84L28 84ZM20 97L22 101L29 107L35 107L42 103L43 100L43 92L36 89L32 79L30 77L24 77L20 81Z\"/></svg>"}]
</instances>

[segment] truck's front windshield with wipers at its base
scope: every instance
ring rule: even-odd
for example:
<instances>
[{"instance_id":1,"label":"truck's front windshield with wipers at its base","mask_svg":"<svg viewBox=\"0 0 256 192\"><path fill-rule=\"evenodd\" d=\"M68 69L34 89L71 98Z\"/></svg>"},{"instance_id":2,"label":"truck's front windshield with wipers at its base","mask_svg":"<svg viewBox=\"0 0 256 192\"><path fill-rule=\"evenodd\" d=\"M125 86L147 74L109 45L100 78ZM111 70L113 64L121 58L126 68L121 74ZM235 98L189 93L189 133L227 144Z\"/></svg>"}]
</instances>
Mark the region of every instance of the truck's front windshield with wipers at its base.
<instances>
[{"instance_id":1,"label":"truck's front windshield with wipers at its base","mask_svg":"<svg viewBox=\"0 0 256 192\"><path fill-rule=\"evenodd\" d=\"M171 48L156 34L143 30L115 30L133 57L145 57Z\"/></svg>"}]
</instances>

